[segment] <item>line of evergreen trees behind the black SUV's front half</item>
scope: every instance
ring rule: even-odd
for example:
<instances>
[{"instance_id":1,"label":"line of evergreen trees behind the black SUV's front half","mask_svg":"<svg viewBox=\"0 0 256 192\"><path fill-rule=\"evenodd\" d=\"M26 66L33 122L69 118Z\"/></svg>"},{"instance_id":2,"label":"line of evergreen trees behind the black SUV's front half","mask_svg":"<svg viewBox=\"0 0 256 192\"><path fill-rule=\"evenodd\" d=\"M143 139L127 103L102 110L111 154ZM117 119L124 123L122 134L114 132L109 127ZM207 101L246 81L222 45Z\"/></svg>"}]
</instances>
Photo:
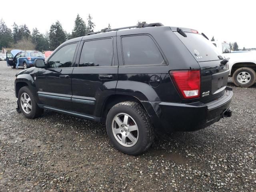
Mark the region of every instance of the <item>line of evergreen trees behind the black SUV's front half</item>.
<instances>
[{"instance_id":1,"label":"line of evergreen trees behind the black SUV's front half","mask_svg":"<svg viewBox=\"0 0 256 192\"><path fill-rule=\"evenodd\" d=\"M66 40L85 36L88 32L92 32L94 27L95 24L92 22L90 14L88 15L87 23L77 14L71 34L62 28L62 24L58 20L50 26L49 31L43 34L37 28L33 28L32 32L30 32L26 24L18 26L15 22L11 30L1 19L0 49L6 47L21 50L54 50ZM111 28L110 24L108 24L108 28Z\"/></svg>"}]
</instances>

